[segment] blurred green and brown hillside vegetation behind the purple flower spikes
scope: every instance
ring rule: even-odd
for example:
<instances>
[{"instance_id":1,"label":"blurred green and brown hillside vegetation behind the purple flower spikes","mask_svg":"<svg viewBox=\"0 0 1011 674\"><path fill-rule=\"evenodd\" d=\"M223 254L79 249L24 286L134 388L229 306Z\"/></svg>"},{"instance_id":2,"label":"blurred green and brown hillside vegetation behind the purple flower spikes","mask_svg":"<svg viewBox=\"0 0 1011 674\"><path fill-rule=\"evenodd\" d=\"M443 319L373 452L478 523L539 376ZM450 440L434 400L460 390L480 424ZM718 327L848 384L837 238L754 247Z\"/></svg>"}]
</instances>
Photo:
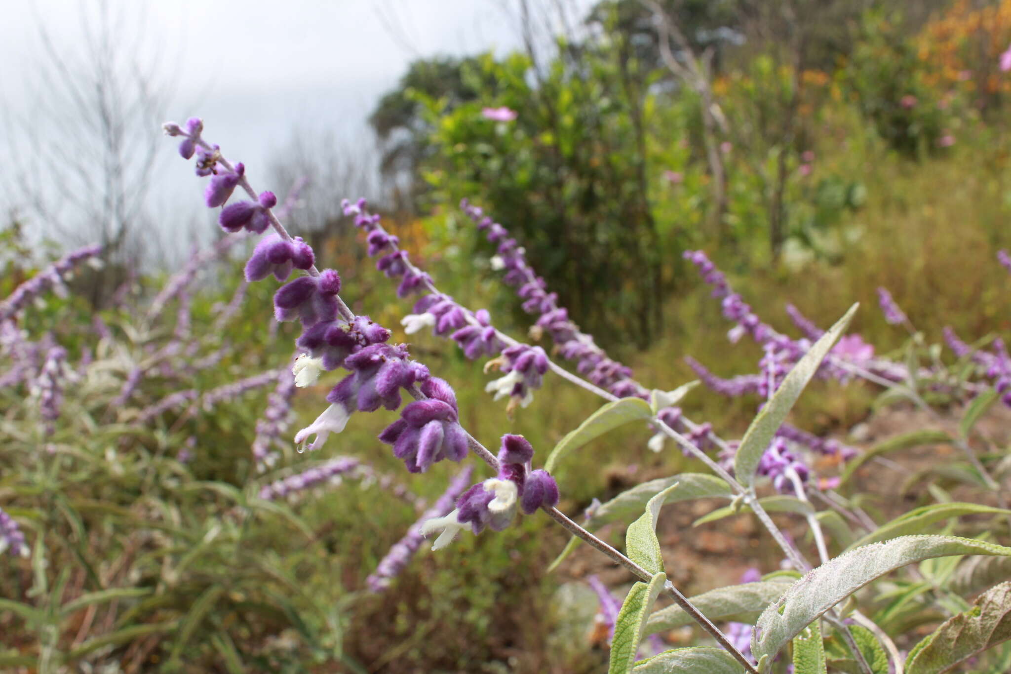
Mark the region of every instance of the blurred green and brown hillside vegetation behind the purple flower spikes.
<instances>
[{"instance_id":1,"label":"blurred green and brown hillside vegetation behind the purple flower spikes","mask_svg":"<svg viewBox=\"0 0 1011 674\"><path fill-rule=\"evenodd\" d=\"M372 201L446 292L486 306L514 334L529 326L490 270L493 251L458 209L466 197L512 229L570 315L647 386L691 379L684 355L725 376L752 371L759 356L725 340L718 302L682 262L694 248L780 329L786 302L826 325L859 300L856 329L888 353L903 335L874 309L878 286L934 339L944 325L967 335L1011 327L1009 280L994 259L1011 246L1011 73L999 68L1011 0L606 1L566 16L580 29L545 42L537 35L559 24L546 20L549 5L521 4L526 50L416 61L371 113L383 176ZM516 118L482 114L501 106ZM354 168L293 147L271 173L279 193L303 176L310 182L289 228L341 271L353 310L398 325L408 307L339 208L341 197L359 196L341 193L358 187ZM15 218L2 234L0 296L45 263L26 240L30 226ZM0 506L32 549L27 560L0 557L0 597L31 607L0 604L4 668L601 671L595 605L578 580L606 565L587 556L546 574L565 536L544 517L465 537L438 556L423 551L373 595L364 579L417 517L410 503L356 480L287 504L253 498L278 475L336 455L435 498L453 467L404 474L375 440L390 415L356 415L323 457L285 445L266 475L249 448L269 388L213 412L179 408L136 422L180 388L207 391L288 362L295 334L271 327L270 284L251 286L239 312L218 320L242 255L208 264L185 307L195 335L187 358L223 356L148 377L129 404L110 409L131 367L171 339L182 307L145 317L171 272L139 271L136 237L106 233L106 268L21 323L53 335L71 363L90 354L102 377L68 390L50 438L34 425L26 388L0 390ZM111 330L98 346L95 316ZM509 419L482 392L478 366L428 335L412 343L456 387L464 424L486 443L520 432L546 452L598 406L549 379ZM318 413L325 393L295 396L292 427ZM846 439L874 395L821 384L795 415ZM685 408L734 437L755 403L700 391ZM645 440L644 429L609 436L563 466L563 509L688 465L647 452ZM183 448L191 458L180 459ZM725 580L776 563L766 547L749 548ZM709 574L686 565L677 580L695 593L709 588ZM553 596L566 610L549 607Z\"/></svg>"}]
</instances>

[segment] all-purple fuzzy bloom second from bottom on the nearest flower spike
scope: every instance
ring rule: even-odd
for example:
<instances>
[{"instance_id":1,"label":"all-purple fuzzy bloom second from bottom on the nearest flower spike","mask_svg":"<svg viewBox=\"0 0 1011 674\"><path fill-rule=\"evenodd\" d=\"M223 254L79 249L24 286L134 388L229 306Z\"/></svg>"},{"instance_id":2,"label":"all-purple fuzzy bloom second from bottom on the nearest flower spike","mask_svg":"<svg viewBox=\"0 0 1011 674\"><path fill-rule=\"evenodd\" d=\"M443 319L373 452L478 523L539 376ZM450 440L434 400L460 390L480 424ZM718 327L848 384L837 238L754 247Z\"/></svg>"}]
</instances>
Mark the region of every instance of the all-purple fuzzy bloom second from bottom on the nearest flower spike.
<instances>
[{"instance_id":1,"label":"all-purple fuzzy bloom second from bottom on the nearest flower spike","mask_svg":"<svg viewBox=\"0 0 1011 674\"><path fill-rule=\"evenodd\" d=\"M443 459L462 461L468 449L450 385L431 377L421 389L427 399L406 405L400 418L379 435L381 443L393 446L393 456L403 461L410 473L424 473Z\"/></svg>"}]
</instances>

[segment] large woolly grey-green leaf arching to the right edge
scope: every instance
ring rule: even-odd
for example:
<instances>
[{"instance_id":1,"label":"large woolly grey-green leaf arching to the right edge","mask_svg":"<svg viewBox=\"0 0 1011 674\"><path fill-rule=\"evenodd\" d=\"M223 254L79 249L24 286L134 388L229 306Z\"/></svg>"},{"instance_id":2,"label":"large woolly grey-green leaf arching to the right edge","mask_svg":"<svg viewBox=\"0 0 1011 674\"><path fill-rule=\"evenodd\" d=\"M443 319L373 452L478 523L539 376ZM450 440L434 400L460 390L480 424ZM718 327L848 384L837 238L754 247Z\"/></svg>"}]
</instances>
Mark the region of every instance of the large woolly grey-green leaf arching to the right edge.
<instances>
[{"instance_id":1,"label":"large woolly grey-green leaf arching to the right edge","mask_svg":"<svg viewBox=\"0 0 1011 674\"><path fill-rule=\"evenodd\" d=\"M825 611L890 571L948 555L1011 556L1011 548L954 536L905 536L851 550L812 569L758 617L751 653L766 666L779 649Z\"/></svg>"}]
</instances>

